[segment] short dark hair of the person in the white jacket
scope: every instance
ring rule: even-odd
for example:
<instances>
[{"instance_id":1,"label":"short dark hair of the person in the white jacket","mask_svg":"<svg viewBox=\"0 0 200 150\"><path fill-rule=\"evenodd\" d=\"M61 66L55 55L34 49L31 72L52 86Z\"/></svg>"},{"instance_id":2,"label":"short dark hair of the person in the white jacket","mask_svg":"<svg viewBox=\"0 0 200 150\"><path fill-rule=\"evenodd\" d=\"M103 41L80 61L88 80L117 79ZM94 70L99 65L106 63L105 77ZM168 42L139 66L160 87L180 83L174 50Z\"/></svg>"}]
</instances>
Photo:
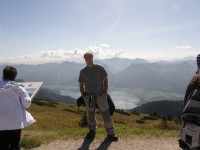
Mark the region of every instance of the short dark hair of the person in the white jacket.
<instances>
[{"instance_id":1,"label":"short dark hair of the person in the white jacket","mask_svg":"<svg viewBox=\"0 0 200 150\"><path fill-rule=\"evenodd\" d=\"M17 69L13 66L6 66L3 69L3 80L14 81L17 76Z\"/></svg>"}]
</instances>

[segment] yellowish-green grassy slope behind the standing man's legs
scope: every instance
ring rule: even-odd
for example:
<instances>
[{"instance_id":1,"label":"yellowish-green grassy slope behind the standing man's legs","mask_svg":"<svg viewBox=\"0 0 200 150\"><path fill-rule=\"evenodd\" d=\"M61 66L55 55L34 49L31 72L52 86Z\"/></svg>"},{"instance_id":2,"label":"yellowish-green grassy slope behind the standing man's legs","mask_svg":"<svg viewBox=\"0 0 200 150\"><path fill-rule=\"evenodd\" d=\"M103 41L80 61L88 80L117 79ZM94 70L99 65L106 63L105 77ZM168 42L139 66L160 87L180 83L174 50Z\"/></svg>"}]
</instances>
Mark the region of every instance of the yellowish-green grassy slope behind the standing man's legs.
<instances>
[{"instance_id":1,"label":"yellowish-green grassy slope behind the standing man's legs","mask_svg":"<svg viewBox=\"0 0 200 150\"><path fill-rule=\"evenodd\" d=\"M85 107L80 111L74 104L49 100L34 100L28 110L36 123L22 132L21 146L38 147L58 139L84 138L87 127L80 127ZM104 138L106 132L99 112L96 112L98 129L96 138ZM113 115L119 137L131 136L178 136L180 125L173 119L159 118L148 114L131 114L117 110Z\"/></svg>"}]
</instances>

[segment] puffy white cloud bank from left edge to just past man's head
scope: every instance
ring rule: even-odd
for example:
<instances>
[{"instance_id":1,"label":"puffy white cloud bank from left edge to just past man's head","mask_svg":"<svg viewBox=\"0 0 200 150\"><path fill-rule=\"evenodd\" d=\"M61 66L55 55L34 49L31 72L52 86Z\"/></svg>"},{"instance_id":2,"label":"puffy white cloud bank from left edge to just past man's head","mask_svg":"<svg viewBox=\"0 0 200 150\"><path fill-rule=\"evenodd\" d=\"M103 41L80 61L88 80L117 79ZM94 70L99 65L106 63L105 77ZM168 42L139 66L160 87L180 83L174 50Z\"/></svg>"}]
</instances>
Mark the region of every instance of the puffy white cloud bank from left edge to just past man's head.
<instances>
[{"instance_id":1,"label":"puffy white cloud bank from left edge to just past man's head","mask_svg":"<svg viewBox=\"0 0 200 150\"><path fill-rule=\"evenodd\" d=\"M86 50L75 48L74 50L50 50L41 51L37 54L26 55L20 57L0 58L0 62L9 62L17 64L40 64L48 62L84 62L83 55L90 51L94 55L94 59L108 59L112 57L126 57L125 52L120 50L112 50L109 45L101 44L100 46L89 46Z\"/></svg>"}]
</instances>

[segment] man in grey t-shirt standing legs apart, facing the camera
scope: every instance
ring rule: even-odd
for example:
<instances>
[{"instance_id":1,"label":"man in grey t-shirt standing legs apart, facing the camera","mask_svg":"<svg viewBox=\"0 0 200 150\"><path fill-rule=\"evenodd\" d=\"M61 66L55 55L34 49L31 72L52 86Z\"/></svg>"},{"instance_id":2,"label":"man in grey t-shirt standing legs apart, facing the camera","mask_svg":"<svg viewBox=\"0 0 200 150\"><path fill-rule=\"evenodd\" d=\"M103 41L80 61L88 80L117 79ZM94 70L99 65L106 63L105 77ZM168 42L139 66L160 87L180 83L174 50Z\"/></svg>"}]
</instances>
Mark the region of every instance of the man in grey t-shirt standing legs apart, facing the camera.
<instances>
[{"instance_id":1,"label":"man in grey t-shirt standing legs apart, facing the camera","mask_svg":"<svg viewBox=\"0 0 200 150\"><path fill-rule=\"evenodd\" d=\"M107 138L112 141L118 141L114 131L113 120L110 116L109 105L107 101L108 78L107 72L100 65L93 64L93 54L87 52L84 54L87 64L79 74L79 86L82 97L84 98L89 120L89 132L87 138L94 138L96 133L95 107L98 106L107 131Z\"/></svg>"}]
</instances>

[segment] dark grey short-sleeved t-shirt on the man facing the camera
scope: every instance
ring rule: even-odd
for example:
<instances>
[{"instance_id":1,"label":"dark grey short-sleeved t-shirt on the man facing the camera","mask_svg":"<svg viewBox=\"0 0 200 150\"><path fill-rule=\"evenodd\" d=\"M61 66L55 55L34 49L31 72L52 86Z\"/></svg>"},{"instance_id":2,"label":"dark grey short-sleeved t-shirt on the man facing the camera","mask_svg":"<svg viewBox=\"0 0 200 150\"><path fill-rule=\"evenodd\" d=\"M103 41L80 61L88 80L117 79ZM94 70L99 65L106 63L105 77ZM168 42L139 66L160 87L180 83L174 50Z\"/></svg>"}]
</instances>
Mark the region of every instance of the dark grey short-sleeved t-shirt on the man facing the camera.
<instances>
[{"instance_id":1,"label":"dark grey short-sleeved t-shirt on the man facing the camera","mask_svg":"<svg viewBox=\"0 0 200 150\"><path fill-rule=\"evenodd\" d=\"M93 67L85 67L80 71L79 82L85 85L85 92L91 95L99 95L103 92L103 77L107 76L107 72L100 65Z\"/></svg>"}]
</instances>

